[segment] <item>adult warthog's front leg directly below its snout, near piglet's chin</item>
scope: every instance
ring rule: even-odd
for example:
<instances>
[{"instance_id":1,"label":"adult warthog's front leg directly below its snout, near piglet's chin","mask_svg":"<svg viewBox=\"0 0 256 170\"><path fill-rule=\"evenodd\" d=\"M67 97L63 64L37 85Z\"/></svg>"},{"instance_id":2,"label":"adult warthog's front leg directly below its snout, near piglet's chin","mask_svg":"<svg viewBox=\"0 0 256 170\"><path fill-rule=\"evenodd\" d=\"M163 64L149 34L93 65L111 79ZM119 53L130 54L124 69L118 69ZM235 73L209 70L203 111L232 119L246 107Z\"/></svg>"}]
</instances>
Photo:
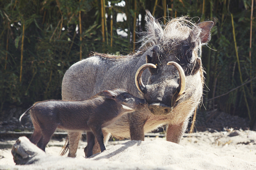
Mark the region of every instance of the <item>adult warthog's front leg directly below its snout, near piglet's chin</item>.
<instances>
[{"instance_id":1,"label":"adult warthog's front leg directly below its snout, near piglet's chin","mask_svg":"<svg viewBox=\"0 0 256 170\"><path fill-rule=\"evenodd\" d=\"M148 119L141 112L135 111L128 113L131 140L144 141L144 125Z\"/></svg>"}]
</instances>

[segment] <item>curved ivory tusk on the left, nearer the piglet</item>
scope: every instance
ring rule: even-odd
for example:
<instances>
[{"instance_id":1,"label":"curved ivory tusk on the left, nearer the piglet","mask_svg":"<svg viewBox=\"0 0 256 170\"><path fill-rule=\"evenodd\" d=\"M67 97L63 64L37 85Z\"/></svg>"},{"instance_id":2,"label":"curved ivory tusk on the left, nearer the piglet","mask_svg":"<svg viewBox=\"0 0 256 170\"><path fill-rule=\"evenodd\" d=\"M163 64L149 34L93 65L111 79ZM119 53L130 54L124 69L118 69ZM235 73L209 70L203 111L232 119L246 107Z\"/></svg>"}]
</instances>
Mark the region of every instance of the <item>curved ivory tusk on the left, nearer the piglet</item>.
<instances>
[{"instance_id":1,"label":"curved ivory tusk on the left, nearer the piglet","mask_svg":"<svg viewBox=\"0 0 256 170\"><path fill-rule=\"evenodd\" d=\"M156 68L156 66L154 64L151 64L151 63L147 63L147 64L143 64L136 72L135 74L135 84L136 84L136 87L137 89L141 92L141 93L145 93L146 91L146 86L142 83L142 80L141 80L141 75L143 73L143 71L146 69L146 68L149 68L149 67L153 67L153 68Z\"/></svg>"}]
</instances>

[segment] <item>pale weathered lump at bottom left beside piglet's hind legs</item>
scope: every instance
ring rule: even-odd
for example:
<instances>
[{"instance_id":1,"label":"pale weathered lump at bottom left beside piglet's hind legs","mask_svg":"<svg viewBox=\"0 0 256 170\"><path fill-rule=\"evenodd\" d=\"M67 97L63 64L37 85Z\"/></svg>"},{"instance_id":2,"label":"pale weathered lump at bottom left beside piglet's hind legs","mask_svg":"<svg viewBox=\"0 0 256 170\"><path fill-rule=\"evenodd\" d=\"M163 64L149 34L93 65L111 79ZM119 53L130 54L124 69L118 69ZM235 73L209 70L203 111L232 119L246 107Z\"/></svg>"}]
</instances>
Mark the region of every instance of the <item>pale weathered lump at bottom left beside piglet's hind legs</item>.
<instances>
[{"instance_id":1,"label":"pale weathered lump at bottom left beside piglet's hind legs","mask_svg":"<svg viewBox=\"0 0 256 170\"><path fill-rule=\"evenodd\" d=\"M25 136L19 137L13 145L12 155L16 165L34 164L38 158L46 157L46 153Z\"/></svg>"}]
</instances>

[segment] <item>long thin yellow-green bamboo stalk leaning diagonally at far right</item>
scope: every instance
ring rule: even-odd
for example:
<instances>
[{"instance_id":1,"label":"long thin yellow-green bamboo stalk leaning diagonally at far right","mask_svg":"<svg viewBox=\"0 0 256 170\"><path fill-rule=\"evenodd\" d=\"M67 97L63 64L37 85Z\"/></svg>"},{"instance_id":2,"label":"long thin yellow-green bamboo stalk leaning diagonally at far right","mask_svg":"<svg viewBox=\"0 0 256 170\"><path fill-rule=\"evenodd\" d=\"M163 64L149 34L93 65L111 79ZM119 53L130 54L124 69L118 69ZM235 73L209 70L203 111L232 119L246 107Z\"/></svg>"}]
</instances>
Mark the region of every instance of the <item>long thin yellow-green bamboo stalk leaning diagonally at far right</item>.
<instances>
[{"instance_id":1,"label":"long thin yellow-green bamboo stalk leaning diagonally at far right","mask_svg":"<svg viewBox=\"0 0 256 170\"><path fill-rule=\"evenodd\" d=\"M236 35L235 35L235 28L234 28L234 20L233 20L233 15L231 14L231 23L232 23L232 27L233 27L233 38L234 38L234 44L235 44L235 50L236 50L236 57L237 57L237 64L238 64L238 70L239 70L239 74L240 74L240 81L243 84L243 79L242 79L242 73L241 73L241 67L240 67L240 61L239 61L239 57L238 57L238 51L237 51L237 42L236 42ZM247 98L246 98L246 93L244 90L244 86L242 86L242 90L243 90L243 94L244 94L244 101L246 103L246 107L248 110L248 115L249 115L249 119L251 120L251 114L250 114L250 108L247 102Z\"/></svg>"}]
</instances>

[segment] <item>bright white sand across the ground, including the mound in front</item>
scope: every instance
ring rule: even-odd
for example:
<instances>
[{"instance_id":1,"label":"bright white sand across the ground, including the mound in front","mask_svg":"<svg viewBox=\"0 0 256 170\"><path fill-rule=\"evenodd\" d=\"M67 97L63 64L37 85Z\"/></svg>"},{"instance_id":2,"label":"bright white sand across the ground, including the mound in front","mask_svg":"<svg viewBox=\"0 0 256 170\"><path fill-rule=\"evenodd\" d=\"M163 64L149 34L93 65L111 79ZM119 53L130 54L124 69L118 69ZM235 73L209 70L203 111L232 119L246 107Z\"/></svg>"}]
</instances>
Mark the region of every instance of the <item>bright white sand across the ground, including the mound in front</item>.
<instances>
[{"instance_id":1,"label":"bright white sand across the ground, including the mound in front","mask_svg":"<svg viewBox=\"0 0 256 170\"><path fill-rule=\"evenodd\" d=\"M228 136L233 133L194 133L191 137L184 138L180 145L159 137L146 137L145 141L112 141L106 146L107 150L89 159L84 158L83 152L87 143L81 141L77 158L73 161L81 160L86 163L83 168L91 166L88 162L97 161L98 166L107 163L110 167L120 165L124 169L123 165L126 164L139 169L256 169L256 132L238 131L237 136ZM46 153L58 156L64 143L65 141L50 141ZM1 165L15 164L10 151L11 149L0 150L0 169Z\"/></svg>"}]
</instances>

